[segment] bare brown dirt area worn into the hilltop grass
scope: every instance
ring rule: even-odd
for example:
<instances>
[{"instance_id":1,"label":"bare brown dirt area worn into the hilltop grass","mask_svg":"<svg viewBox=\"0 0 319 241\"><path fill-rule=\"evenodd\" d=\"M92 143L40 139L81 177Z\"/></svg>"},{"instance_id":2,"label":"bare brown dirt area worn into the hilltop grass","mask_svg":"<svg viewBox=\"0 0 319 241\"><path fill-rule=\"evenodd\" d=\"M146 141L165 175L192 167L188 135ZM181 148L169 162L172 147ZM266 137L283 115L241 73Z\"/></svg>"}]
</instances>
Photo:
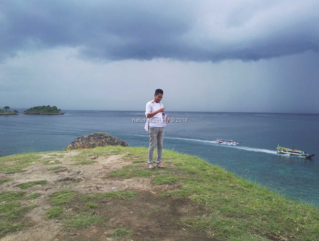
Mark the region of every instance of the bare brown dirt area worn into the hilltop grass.
<instances>
[{"instance_id":1,"label":"bare brown dirt area worn into the hilltop grass","mask_svg":"<svg viewBox=\"0 0 319 241\"><path fill-rule=\"evenodd\" d=\"M179 219L185 215L203 214L204 210L193 206L187 200L172 200L169 197L159 198L157 194L174 189L173 185L154 185L151 178L106 179L107 174L128 165L131 162L124 160L124 155L92 157L96 161L90 165L73 165L68 158L77 155L77 151L66 153L43 154L42 158L49 158L52 165L33 163L23 173L1 174L0 178L9 178L1 185L5 191L20 191L15 185L28 181L48 181L45 185L36 185L27 189L29 194L39 193L28 204L38 207L28 212L30 226L24 230L8 234L1 241L206 241L211 240L205 234L194 232L182 227ZM56 164L54 162L56 161ZM51 164L51 163L50 163ZM48 168L61 166L57 170ZM147 165L145 165L147 168ZM150 170L151 171L151 170ZM71 189L77 193L96 194L115 190L133 190L139 196L132 200L99 200L98 215L103 221L97 222L89 228L66 231L59 220L47 219L46 213L52 207L50 196L60 190ZM77 201L72 207L77 208ZM131 237L111 238L115 229L126 228L133 230Z\"/></svg>"}]
</instances>

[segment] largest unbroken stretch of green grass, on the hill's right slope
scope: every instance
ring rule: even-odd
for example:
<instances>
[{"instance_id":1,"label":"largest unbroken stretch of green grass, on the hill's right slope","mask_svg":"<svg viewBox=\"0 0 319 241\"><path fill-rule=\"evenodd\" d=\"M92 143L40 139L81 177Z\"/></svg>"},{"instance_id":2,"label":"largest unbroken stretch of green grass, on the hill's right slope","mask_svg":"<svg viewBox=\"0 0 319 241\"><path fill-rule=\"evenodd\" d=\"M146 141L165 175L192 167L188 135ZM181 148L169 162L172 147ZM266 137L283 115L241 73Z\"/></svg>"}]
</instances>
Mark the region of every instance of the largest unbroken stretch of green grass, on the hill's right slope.
<instances>
[{"instance_id":1,"label":"largest unbroken stretch of green grass, on the hill's right slope","mask_svg":"<svg viewBox=\"0 0 319 241\"><path fill-rule=\"evenodd\" d=\"M144 150L147 152L146 150ZM144 152L144 155L145 155ZM132 156L138 156L135 152ZM152 178L155 184L179 184L179 188L159 197L187 198L203 207L205 215L188 215L182 227L201 231L219 240L319 239L317 207L293 201L257 183L246 181L223 168L196 157L164 151L174 168L149 171L141 159L113 171L108 177Z\"/></svg>"}]
</instances>

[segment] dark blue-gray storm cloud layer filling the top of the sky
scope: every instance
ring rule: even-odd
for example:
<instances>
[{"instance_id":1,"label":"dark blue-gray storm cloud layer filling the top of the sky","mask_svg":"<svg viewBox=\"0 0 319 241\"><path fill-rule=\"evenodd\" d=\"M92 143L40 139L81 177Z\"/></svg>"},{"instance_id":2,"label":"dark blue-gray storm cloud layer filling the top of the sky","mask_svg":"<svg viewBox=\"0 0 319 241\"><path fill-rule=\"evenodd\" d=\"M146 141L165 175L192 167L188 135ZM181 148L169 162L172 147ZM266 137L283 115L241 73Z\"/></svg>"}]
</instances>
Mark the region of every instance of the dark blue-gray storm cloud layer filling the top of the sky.
<instances>
[{"instance_id":1,"label":"dark blue-gray storm cloud layer filling the top of the sky","mask_svg":"<svg viewBox=\"0 0 319 241\"><path fill-rule=\"evenodd\" d=\"M0 60L78 48L102 60L260 60L319 51L319 1L3 0Z\"/></svg>"}]
</instances>

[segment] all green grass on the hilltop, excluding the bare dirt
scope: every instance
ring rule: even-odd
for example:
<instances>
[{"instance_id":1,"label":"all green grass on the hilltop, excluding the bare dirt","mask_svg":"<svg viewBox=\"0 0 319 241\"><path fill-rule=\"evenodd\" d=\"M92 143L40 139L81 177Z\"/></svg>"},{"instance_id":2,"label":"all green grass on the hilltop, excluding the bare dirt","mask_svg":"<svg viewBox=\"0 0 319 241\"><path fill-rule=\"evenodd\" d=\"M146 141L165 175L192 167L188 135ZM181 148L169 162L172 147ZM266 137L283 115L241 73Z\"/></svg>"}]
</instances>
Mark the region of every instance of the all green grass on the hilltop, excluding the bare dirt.
<instances>
[{"instance_id":1,"label":"all green grass on the hilltop, excluding the bare dirt","mask_svg":"<svg viewBox=\"0 0 319 241\"><path fill-rule=\"evenodd\" d=\"M111 172L105 178L122 180L139 177L150 179L156 185L172 185L174 188L170 188L171 190L166 193L158 194L158 197L169 200L185 199L205 211L204 215L188 214L176 220L187 230L199 231L209 238L221 241L319 240L319 209L317 207L293 201L257 183L227 172L223 168L213 166L196 156L164 150L166 168L149 170L145 164L147 148L99 147L76 151L76 154L65 158L73 164L80 165L94 165L95 161L90 160L92 155L104 157L123 155L122 159L128 161L127 165ZM58 158L67 152L57 152L60 153ZM0 173L23 172L30 165L46 164L41 154L43 153L1 157ZM52 156L50 160L51 158ZM47 170L63 168L62 166L51 167ZM2 178L0 184L7 180L8 178ZM23 184L27 186L31 183ZM89 227L94 222L103 221L104 217L97 214L102 208L101 200L131 200L132 202L138 195L138 192L133 191L83 195L66 189L50 197L52 207L48 209L46 218L59 218L67 230ZM27 195L22 191L0 192L0 237L25 227L27 220L24 219L24 215L34 206L22 206L20 202L22 200L27 202L37 197L39 197L38 193ZM72 211L68 207L73 207ZM156 210L152 211L156 212ZM134 234L133 231L123 228L115 231L113 238ZM129 234L125 234L126 232Z\"/></svg>"}]
</instances>

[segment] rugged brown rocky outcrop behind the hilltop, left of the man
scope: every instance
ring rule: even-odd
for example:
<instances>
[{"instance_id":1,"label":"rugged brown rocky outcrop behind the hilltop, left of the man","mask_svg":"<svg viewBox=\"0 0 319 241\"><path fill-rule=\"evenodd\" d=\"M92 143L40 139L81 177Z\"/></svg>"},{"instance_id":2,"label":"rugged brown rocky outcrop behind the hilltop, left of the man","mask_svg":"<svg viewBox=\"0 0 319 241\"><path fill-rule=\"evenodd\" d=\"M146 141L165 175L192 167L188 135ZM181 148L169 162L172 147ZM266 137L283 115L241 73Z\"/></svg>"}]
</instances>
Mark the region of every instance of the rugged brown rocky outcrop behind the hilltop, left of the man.
<instances>
[{"instance_id":1,"label":"rugged brown rocky outcrop behind the hilltop, left of the man","mask_svg":"<svg viewBox=\"0 0 319 241\"><path fill-rule=\"evenodd\" d=\"M66 147L66 150L104 147L104 146L123 146L128 147L126 141L113 137L106 133L93 133L84 135L74 139L71 144Z\"/></svg>"}]
</instances>

